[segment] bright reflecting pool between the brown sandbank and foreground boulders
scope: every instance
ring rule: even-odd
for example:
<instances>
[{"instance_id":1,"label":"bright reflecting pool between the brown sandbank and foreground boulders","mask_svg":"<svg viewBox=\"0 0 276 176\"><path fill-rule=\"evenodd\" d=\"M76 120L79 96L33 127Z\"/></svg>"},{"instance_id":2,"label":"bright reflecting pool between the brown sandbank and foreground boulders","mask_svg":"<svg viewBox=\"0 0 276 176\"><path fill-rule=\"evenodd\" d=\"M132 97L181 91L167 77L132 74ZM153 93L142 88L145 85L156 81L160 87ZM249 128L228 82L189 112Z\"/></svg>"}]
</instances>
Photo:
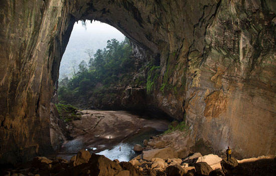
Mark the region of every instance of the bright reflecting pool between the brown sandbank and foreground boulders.
<instances>
[{"instance_id":1,"label":"bright reflecting pool between the brown sandbank and foreground boulders","mask_svg":"<svg viewBox=\"0 0 276 176\"><path fill-rule=\"evenodd\" d=\"M163 130L158 130L152 127L142 128L139 132L133 134L129 138L123 140L120 144L114 146L111 150L103 150L96 154L104 155L111 160L118 159L119 161L129 161L133 157L141 154L141 152L133 151L133 146L135 144L140 144L143 146L144 139L149 140L150 136L155 136L163 132Z\"/></svg>"}]
</instances>

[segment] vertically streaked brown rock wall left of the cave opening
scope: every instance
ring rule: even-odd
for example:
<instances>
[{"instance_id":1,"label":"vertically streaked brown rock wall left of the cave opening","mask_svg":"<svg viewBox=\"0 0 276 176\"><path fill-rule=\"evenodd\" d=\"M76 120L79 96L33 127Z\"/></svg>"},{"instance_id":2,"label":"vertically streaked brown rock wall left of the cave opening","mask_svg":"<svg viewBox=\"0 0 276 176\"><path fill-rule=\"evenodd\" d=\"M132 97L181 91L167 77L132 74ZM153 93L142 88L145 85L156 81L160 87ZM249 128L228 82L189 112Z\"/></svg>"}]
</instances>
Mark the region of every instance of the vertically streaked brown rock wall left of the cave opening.
<instances>
[{"instance_id":1,"label":"vertically streaked brown rock wall left of the cave opening","mask_svg":"<svg viewBox=\"0 0 276 176\"><path fill-rule=\"evenodd\" d=\"M0 163L52 150L50 100L74 23L67 3L0 3Z\"/></svg>"}]
</instances>

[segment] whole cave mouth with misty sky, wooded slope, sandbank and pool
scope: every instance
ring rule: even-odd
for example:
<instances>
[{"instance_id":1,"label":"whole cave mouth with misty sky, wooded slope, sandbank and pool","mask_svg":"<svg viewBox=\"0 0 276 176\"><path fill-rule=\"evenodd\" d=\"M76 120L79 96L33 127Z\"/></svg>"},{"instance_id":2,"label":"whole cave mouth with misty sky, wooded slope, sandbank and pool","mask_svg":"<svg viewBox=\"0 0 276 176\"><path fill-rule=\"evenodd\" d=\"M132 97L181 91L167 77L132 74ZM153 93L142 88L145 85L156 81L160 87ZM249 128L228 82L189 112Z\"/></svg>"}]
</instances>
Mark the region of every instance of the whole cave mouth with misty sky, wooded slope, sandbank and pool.
<instances>
[{"instance_id":1,"label":"whole cave mouth with misty sky, wooded slope, sandbank and pool","mask_svg":"<svg viewBox=\"0 0 276 176\"><path fill-rule=\"evenodd\" d=\"M66 128L59 137L68 142L58 156L70 160L86 148L112 160L128 161L139 154L133 151L135 144L143 146L144 139L168 128L165 114L153 117L145 110L137 112L147 106L146 77L141 70L152 63L133 54L132 47L107 24L75 23L60 65L57 108L59 123L64 124L60 128Z\"/></svg>"}]
</instances>

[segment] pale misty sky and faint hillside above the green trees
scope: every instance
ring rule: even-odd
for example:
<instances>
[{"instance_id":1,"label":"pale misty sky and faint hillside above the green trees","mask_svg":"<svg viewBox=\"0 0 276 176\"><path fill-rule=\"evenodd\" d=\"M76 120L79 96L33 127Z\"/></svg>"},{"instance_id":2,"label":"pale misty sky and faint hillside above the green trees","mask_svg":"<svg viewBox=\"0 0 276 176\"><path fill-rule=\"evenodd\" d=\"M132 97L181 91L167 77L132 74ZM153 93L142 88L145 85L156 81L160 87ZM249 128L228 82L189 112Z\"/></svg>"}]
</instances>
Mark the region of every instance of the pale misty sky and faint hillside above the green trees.
<instances>
[{"instance_id":1,"label":"pale misty sky and faint hillside above the green trees","mask_svg":"<svg viewBox=\"0 0 276 176\"><path fill-rule=\"evenodd\" d=\"M95 54L97 49L106 47L107 40L113 38L121 42L124 40L124 35L117 29L98 21L93 21L92 24L87 22L86 29L81 22L76 23L61 60L59 80L66 76L72 77L74 61L76 67L82 60L88 64L89 56L85 53L86 50L90 49Z\"/></svg>"}]
</instances>

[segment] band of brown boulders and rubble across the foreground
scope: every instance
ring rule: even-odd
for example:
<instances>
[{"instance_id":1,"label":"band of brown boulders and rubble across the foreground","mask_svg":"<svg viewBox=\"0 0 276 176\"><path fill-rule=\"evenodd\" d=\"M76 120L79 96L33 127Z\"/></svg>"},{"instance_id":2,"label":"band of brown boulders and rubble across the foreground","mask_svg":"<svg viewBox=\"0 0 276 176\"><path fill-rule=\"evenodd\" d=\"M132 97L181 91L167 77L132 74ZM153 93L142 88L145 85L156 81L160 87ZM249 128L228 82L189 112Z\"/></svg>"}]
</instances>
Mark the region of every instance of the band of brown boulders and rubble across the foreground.
<instances>
[{"instance_id":1,"label":"band of brown boulders and rubble across the foreground","mask_svg":"<svg viewBox=\"0 0 276 176\"><path fill-rule=\"evenodd\" d=\"M275 175L275 156L261 156L227 161L217 155L202 156L193 153L186 158L176 158L172 148L151 149L129 162L111 161L103 155L80 150L70 161L55 158L35 157L33 161L16 168L2 169L1 175Z\"/></svg>"}]
</instances>

